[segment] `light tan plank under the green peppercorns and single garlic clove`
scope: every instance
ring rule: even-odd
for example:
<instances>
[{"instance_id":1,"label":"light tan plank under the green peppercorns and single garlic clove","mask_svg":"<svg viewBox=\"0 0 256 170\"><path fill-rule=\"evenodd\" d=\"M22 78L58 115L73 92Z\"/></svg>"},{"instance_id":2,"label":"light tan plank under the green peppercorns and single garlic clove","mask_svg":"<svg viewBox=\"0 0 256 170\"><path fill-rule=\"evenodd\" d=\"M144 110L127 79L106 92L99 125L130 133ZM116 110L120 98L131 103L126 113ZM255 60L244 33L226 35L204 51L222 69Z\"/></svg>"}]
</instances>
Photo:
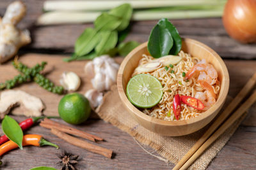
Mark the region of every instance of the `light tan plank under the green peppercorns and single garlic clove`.
<instances>
[{"instance_id":1,"label":"light tan plank under the green peppercorns and single garlic clove","mask_svg":"<svg viewBox=\"0 0 256 170\"><path fill-rule=\"evenodd\" d=\"M60 77L63 72L73 71L81 78L81 85L77 92L84 94L87 90L92 89L91 80L90 78L87 78L84 73L84 66L87 61L63 62L62 59L65 57L68 56L28 53L20 56L19 60L29 67L33 67L37 63L40 64L42 61L46 61L47 66L45 67L45 72L47 74L45 74L45 77L49 78L55 85L60 85ZM116 62L120 63L121 60L121 57L116 57ZM0 82L4 82L19 74L19 71L17 71L10 62L8 62L0 66L0 73L4 73L0 74ZM40 97L46 106L44 114L48 116L58 116L58 103L63 95L56 95L52 92L48 92L35 82L24 83L15 89L24 90L33 96ZM22 110L20 107L17 107L13 110L13 113L19 114L22 113Z\"/></svg>"}]
</instances>

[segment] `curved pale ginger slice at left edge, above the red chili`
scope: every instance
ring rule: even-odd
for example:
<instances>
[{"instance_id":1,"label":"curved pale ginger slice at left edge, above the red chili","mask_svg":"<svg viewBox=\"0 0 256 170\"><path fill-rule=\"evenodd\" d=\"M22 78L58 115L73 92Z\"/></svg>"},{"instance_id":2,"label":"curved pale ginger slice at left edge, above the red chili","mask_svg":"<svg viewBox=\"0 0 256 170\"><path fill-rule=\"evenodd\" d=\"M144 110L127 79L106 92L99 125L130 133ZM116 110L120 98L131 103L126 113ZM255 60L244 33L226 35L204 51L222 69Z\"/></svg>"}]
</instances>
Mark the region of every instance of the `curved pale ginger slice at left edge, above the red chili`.
<instances>
[{"instance_id":1,"label":"curved pale ginger slice at left edge, above the red chili","mask_svg":"<svg viewBox=\"0 0 256 170\"><path fill-rule=\"evenodd\" d=\"M8 90L0 94L0 118L4 118L4 115L8 114L13 107L19 105L24 107L23 115L26 117L40 117L45 108L38 97L31 96L22 90Z\"/></svg>"}]
</instances>

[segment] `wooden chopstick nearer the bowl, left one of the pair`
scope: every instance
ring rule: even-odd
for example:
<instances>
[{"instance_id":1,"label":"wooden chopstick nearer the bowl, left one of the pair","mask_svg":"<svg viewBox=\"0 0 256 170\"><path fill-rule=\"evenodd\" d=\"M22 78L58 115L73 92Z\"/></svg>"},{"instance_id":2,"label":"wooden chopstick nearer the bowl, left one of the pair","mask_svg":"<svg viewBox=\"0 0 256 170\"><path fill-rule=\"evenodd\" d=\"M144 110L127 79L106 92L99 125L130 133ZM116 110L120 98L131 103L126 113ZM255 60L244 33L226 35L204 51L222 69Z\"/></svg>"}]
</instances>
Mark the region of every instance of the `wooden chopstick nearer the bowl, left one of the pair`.
<instances>
[{"instance_id":1,"label":"wooden chopstick nearer the bowl, left one of the pair","mask_svg":"<svg viewBox=\"0 0 256 170\"><path fill-rule=\"evenodd\" d=\"M173 170L179 169L185 162L203 145L203 143L211 136L211 134L222 124L222 122L234 111L239 103L247 96L247 94L253 89L256 83L256 73L247 81L243 89L237 94L237 96L228 104L227 108L220 114L220 116L214 121L214 123L207 129L204 135L198 139L195 145L184 155L184 157L173 167Z\"/></svg>"}]
</instances>

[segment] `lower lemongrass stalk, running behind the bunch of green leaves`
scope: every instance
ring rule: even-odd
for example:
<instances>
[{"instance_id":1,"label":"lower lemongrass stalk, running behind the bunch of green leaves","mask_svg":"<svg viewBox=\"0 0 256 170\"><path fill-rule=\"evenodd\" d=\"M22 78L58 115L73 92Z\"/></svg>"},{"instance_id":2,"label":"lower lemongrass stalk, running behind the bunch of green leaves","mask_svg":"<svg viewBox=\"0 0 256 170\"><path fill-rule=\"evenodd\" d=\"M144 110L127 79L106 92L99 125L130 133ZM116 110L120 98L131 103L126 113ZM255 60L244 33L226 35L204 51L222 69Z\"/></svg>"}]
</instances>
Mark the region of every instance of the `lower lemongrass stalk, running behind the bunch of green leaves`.
<instances>
[{"instance_id":1,"label":"lower lemongrass stalk, running behind the bunch of green leaves","mask_svg":"<svg viewBox=\"0 0 256 170\"><path fill-rule=\"evenodd\" d=\"M134 11L132 20L159 20L161 18L180 19L180 18L209 18L221 17L223 10L186 10L186 11ZM93 22L100 12L70 12L52 11L44 13L38 20L38 25L55 24L81 24Z\"/></svg>"}]
</instances>

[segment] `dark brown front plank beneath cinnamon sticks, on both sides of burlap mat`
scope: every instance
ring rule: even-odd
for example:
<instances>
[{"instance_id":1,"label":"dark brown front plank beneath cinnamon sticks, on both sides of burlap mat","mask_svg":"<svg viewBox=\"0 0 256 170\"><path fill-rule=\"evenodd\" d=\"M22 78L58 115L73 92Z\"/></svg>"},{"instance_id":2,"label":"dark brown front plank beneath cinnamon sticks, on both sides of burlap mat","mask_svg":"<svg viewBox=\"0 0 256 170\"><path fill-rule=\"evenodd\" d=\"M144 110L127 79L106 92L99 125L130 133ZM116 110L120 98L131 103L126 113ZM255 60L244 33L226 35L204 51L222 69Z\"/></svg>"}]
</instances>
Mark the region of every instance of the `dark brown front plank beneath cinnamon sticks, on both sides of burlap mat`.
<instances>
[{"instance_id":1,"label":"dark brown front plank beneath cinnamon sticks, on both sides of burlap mat","mask_svg":"<svg viewBox=\"0 0 256 170\"><path fill-rule=\"evenodd\" d=\"M24 120L24 117L14 118L18 121ZM31 128L26 134L41 134L45 139L60 145L61 149L79 154L80 160L76 166L78 169L170 169L173 167L173 164L167 165L148 155L131 136L102 120L89 120L76 128L106 139L106 142L99 143L99 145L113 149L116 153L115 158L110 160L81 150L81 148L63 142L52 135L49 130L39 126ZM255 138L256 127L240 127L207 169L253 169L256 166L256 147L252 139ZM145 148L153 152L147 146ZM20 170L36 166L57 168L58 158L55 154L60 152L61 150L56 150L51 146L41 148L26 146L24 150L16 149L4 155L2 160L7 164L3 169Z\"/></svg>"}]
</instances>

